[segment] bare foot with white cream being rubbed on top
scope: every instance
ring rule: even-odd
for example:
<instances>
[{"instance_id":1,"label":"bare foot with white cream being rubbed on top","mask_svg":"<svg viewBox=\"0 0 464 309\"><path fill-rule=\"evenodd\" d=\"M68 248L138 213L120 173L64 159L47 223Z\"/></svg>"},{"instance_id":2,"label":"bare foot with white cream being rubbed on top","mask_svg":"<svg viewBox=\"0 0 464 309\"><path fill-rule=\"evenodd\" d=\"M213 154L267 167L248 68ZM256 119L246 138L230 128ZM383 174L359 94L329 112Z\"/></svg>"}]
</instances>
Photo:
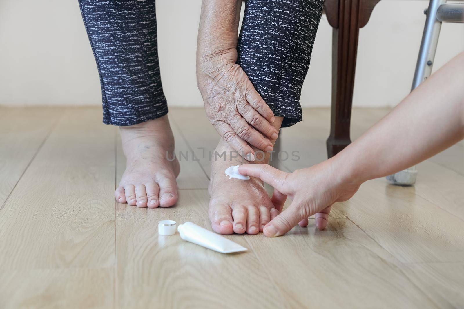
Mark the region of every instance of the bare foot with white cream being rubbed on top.
<instances>
[{"instance_id":1,"label":"bare foot with white cream being rubbed on top","mask_svg":"<svg viewBox=\"0 0 464 309\"><path fill-rule=\"evenodd\" d=\"M280 127L281 122L282 118L276 117L275 125ZM274 142L275 140L272 141ZM279 214L284 205L271 200L263 183L257 178L240 180L226 177L225 170L229 166L250 162L237 153L234 155L233 148L223 139L219 141L216 151L219 155L225 153L226 158L224 160L224 157L213 156L211 160L211 178L208 186L211 199L208 214L213 230L220 234L262 232L264 226ZM235 156L236 158L231 158ZM263 159L257 155L257 160L252 163L267 164L268 162L269 156Z\"/></svg>"}]
</instances>

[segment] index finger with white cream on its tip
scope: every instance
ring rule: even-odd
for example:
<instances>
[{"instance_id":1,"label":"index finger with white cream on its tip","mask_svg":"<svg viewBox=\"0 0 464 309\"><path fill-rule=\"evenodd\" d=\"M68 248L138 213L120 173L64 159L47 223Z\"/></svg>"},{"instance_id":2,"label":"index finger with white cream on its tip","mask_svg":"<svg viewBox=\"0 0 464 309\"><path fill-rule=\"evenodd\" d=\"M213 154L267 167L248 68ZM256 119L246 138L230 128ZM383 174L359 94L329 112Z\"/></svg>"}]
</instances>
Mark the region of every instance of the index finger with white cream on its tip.
<instances>
[{"instance_id":1,"label":"index finger with white cream on its tip","mask_svg":"<svg viewBox=\"0 0 464 309\"><path fill-rule=\"evenodd\" d=\"M277 170L268 164L243 164L238 167L238 172L243 176L257 177L280 192L286 193L285 180L289 173Z\"/></svg>"}]
</instances>

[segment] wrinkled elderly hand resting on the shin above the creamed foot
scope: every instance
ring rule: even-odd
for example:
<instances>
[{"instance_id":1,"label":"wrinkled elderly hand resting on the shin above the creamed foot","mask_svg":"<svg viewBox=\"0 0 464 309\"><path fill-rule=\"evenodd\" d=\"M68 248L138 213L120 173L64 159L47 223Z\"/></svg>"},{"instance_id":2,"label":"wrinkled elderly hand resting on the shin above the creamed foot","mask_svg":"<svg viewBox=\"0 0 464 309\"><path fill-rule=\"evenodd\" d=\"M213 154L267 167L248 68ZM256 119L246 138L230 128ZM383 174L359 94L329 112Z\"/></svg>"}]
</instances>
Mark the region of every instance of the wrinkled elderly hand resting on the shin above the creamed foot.
<instances>
[{"instance_id":1,"label":"wrinkled elderly hand resting on the shin above the creamed foot","mask_svg":"<svg viewBox=\"0 0 464 309\"><path fill-rule=\"evenodd\" d=\"M250 145L272 151L270 139L278 132L271 125L274 114L236 63L198 74L198 88L205 103L206 116L216 131L248 161L255 160Z\"/></svg>"}]
</instances>

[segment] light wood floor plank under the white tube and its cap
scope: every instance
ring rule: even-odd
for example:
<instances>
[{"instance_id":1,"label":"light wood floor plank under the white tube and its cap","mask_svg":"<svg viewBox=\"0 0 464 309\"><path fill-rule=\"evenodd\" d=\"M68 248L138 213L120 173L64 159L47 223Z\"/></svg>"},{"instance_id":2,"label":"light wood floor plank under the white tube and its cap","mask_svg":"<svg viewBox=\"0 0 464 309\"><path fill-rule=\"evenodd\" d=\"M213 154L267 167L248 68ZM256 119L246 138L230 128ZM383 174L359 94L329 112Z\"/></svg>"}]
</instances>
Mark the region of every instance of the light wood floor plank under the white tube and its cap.
<instances>
[{"instance_id":1,"label":"light wood floor plank under the white tube and its cap","mask_svg":"<svg viewBox=\"0 0 464 309\"><path fill-rule=\"evenodd\" d=\"M116 205L120 308L283 308L253 251L224 255L181 240L178 233L158 235L160 220L211 230L208 201L207 190L180 190L172 208ZM226 237L248 247L246 239L253 236Z\"/></svg>"}]
</instances>

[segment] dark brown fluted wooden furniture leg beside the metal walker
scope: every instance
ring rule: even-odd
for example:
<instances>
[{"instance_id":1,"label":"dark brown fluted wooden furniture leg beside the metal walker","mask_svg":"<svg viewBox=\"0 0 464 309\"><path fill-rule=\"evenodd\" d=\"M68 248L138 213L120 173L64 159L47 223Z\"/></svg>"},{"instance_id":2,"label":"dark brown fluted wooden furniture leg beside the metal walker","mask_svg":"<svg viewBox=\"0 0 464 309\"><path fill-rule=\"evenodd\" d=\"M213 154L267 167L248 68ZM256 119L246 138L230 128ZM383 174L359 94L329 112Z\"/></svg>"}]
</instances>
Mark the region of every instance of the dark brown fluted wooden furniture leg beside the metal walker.
<instances>
[{"instance_id":1,"label":"dark brown fluted wooden furniture leg beside the metal walker","mask_svg":"<svg viewBox=\"0 0 464 309\"><path fill-rule=\"evenodd\" d=\"M367 24L380 0L326 0L332 32L332 110L327 154L331 158L351 143L350 119L359 28Z\"/></svg>"}]
</instances>

